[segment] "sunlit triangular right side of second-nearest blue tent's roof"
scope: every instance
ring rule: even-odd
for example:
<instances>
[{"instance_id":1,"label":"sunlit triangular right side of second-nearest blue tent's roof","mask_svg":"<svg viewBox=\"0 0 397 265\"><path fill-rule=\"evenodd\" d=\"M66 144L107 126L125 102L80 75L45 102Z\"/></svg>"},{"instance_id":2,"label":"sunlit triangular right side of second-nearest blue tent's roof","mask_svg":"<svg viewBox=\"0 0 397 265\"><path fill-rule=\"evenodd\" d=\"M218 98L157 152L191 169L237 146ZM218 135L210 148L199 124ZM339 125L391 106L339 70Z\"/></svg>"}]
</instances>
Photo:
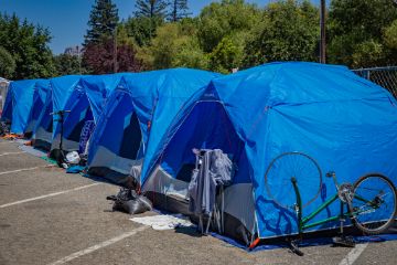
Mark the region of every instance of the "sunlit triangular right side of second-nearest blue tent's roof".
<instances>
[{"instance_id":1,"label":"sunlit triangular right side of second-nearest blue tent's roof","mask_svg":"<svg viewBox=\"0 0 397 265\"><path fill-rule=\"evenodd\" d=\"M187 99L210 81L221 74L191 70L171 68L141 73L132 78L124 78L127 87L138 100L137 114L143 128L150 123L149 134L143 129L143 141L147 142L146 156L151 157L159 141L176 114Z\"/></svg>"}]
</instances>

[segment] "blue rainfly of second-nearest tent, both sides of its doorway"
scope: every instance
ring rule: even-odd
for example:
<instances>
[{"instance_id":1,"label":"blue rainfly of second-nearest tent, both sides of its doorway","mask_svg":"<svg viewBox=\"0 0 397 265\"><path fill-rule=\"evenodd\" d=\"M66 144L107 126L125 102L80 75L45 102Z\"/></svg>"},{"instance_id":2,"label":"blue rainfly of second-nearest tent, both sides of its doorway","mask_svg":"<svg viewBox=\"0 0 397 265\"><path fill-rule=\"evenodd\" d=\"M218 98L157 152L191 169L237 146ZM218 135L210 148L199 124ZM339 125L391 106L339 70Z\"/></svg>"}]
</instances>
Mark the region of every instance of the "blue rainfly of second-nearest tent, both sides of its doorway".
<instances>
[{"instance_id":1,"label":"blue rainfly of second-nearest tent, both sides of its doorway","mask_svg":"<svg viewBox=\"0 0 397 265\"><path fill-rule=\"evenodd\" d=\"M126 130L133 115L137 116L139 123L141 139L138 141L142 144L136 158L141 159L146 151L161 139L162 134L187 98L201 87L205 87L216 76L219 75L190 68L160 70L124 76L107 102L104 117L101 117L106 123L99 121L92 137L88 166L96 159L99 146L120 157L121 149L118 141L124 140L122 132L118 132L120 135L117 136L103 136L101 134L105 131L117 134L116 130L106 128L122 127L121 129ZM118 106L120 104L125 104L125 106ZM118 109L119 114L110 118L115 109Z\"/></svg>"}]
</instances>

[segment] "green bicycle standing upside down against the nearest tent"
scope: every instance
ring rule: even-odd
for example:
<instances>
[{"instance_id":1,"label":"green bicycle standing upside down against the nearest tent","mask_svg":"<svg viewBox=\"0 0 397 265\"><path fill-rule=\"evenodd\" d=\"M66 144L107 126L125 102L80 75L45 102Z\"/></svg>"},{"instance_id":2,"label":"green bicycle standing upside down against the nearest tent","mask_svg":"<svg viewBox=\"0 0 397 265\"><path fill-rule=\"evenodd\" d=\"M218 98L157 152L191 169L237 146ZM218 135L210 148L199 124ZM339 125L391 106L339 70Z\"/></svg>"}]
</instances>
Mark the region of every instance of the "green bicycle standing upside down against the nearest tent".
<instances>
[{"instance_id":1,"label":"green bicycle standing upside down against the nearest tent","mask_svg":"<svg viewBox=\"0 0 397 265\"><path fill-rule=\"evenodd\" d=\"M354 246L354 241L343 235L343 224L346 219L351 219L352 223L365 234L379 234L393 224L397 211L397 197L396 188L387 177L380 173L367 173L353 184L348 182L339 184L335 172L330 171L325 176L333 179L336 193L303 216L303 209L314 202L321 193L323 184L319 163L302 152L285 152L276 157L266 170L267 193L278 206L296 212L299 240L303 239L303 232L308 229L340 221L341 239L335 243ZM313 183L313 179L318 182ZM304 194L300 192L300 187L305 188ZM293 199L288 195L291 189L296 194ZM337 199L341 202L339 215L310 222ZM345 205L347 205L346 210ZM297 241L290 241L289 244L293 253L303 255Z\"/></svg>"}]
</instances>

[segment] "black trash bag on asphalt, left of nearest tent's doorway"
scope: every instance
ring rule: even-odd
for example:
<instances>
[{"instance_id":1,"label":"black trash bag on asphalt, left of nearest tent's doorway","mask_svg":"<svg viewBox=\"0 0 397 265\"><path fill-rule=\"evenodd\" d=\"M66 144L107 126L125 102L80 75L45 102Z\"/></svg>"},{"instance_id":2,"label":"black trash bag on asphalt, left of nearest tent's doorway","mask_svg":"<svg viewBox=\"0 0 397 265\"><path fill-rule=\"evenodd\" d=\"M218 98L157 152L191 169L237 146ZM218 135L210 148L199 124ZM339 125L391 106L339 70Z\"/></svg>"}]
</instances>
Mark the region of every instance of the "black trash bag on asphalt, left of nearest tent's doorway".
<instances>
[{"instance_id":1,"label":"black trash bag on asphalt, left of nearest tent's doorway","mask_svg":"<svg viewBox=\"0 0 397 265\"><path fill-rule=\"evenodd\" d=\"M112 210L118 212L138 214L152 210L151 201L131 189L121 188L117 195L107 197L106 199L115 202Z\"/></svg>"}]
</instances>

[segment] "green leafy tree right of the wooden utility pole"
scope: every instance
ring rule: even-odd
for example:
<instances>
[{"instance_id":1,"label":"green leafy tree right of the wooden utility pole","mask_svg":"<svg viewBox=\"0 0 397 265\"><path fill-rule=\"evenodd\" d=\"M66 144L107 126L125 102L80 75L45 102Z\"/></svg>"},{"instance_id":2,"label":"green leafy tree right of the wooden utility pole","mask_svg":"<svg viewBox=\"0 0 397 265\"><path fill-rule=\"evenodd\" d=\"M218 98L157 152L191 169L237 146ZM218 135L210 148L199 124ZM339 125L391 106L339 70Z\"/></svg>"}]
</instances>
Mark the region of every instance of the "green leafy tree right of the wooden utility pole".
<instances>
[{"instance_id":1,"label":"green leafy tree right of the wooden utility pole","mask_svg":"<svg viewBox=\"0 0 397 265\"><path fill-rule=\"evenodd\" d=\"M397 18L390 0L332 0L329 15L329 62L351 67L396 64L387 29Z\"/></svg>"}]
</instances>

